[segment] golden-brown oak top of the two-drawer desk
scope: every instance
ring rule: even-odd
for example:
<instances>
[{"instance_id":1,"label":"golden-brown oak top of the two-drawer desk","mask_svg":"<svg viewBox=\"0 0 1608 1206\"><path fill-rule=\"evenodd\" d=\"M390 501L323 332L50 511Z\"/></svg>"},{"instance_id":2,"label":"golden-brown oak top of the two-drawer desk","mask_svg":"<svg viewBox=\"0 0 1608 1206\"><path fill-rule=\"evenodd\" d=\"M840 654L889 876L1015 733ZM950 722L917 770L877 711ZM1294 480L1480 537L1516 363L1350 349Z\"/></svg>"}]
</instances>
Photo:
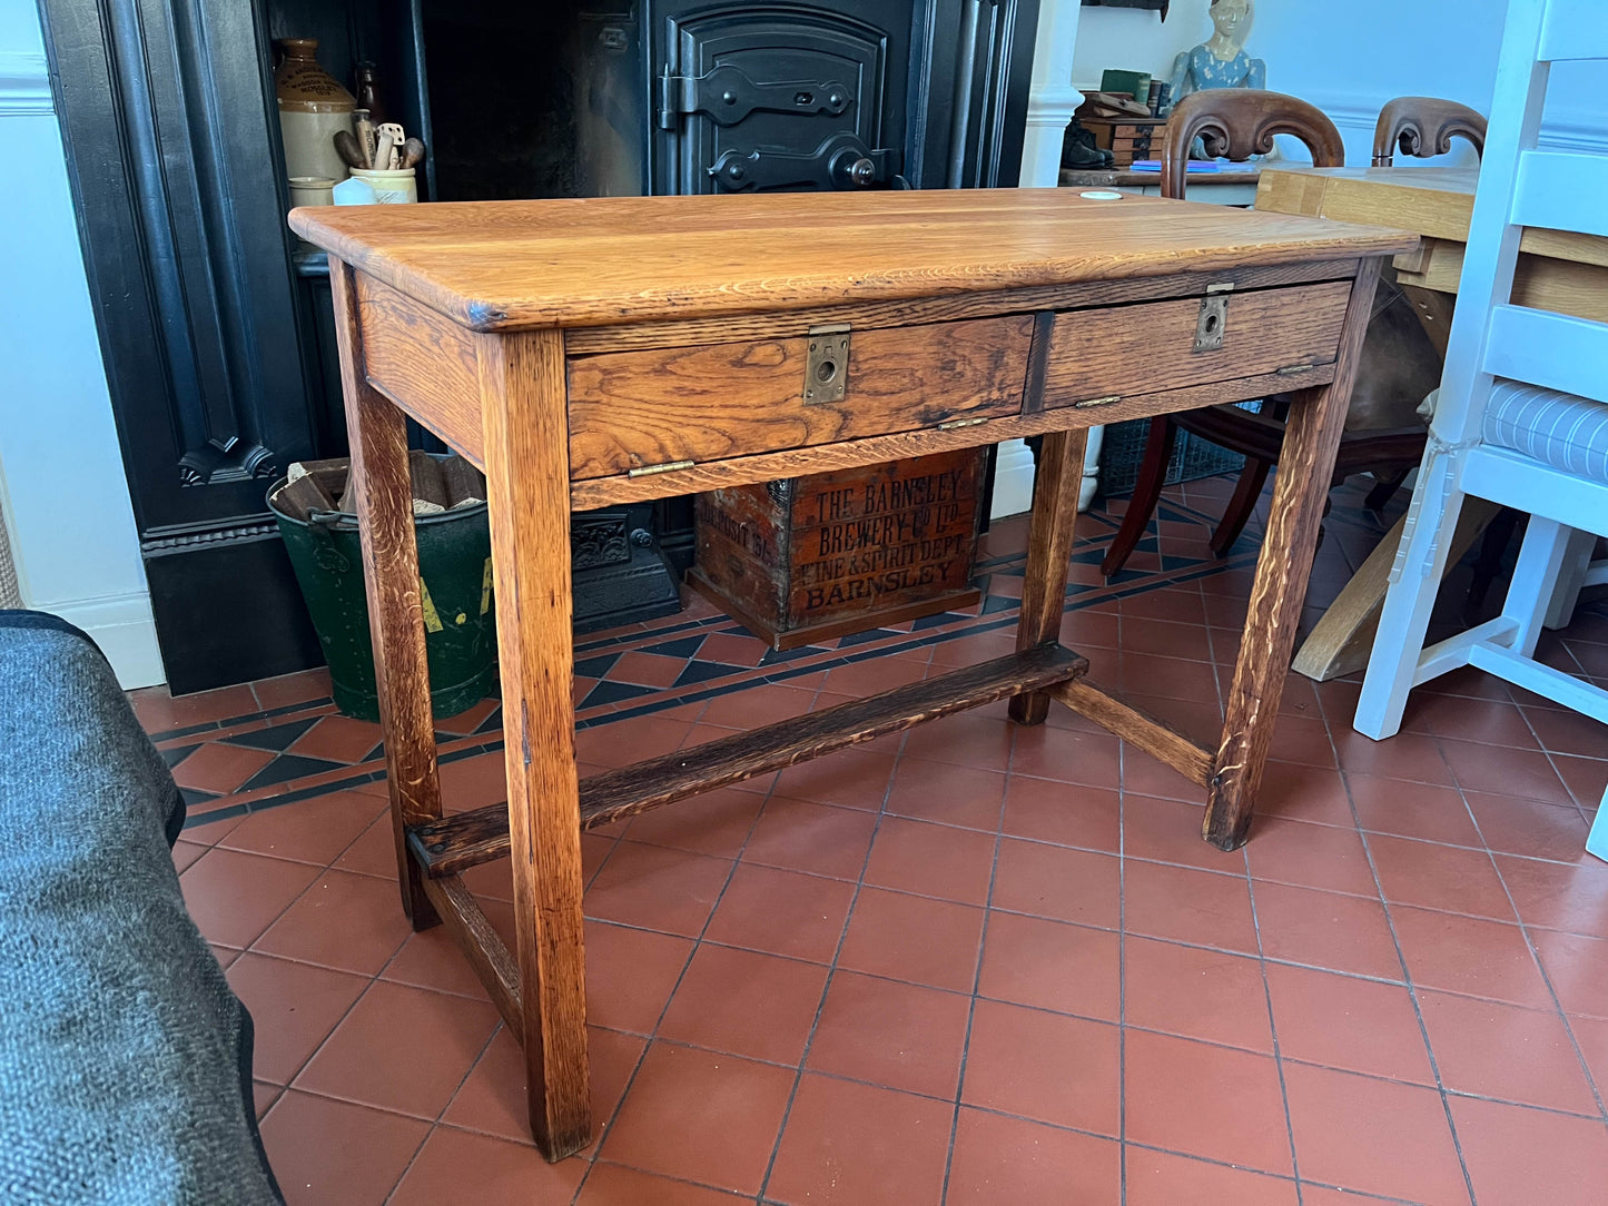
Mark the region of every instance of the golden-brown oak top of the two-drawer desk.
<instances>
[{"instance_id":1,"label":"golden-brown oak top of the two-drawer desk","mask_svg":"<svg viewBox=\"0 0 1608 1206\"><path fill-rule=\"evenodd\" d=\"M1394 230L1068 190L589 198L291 211L478 331L608 326L1389 256Z\"/></svg>"}]
</instances>

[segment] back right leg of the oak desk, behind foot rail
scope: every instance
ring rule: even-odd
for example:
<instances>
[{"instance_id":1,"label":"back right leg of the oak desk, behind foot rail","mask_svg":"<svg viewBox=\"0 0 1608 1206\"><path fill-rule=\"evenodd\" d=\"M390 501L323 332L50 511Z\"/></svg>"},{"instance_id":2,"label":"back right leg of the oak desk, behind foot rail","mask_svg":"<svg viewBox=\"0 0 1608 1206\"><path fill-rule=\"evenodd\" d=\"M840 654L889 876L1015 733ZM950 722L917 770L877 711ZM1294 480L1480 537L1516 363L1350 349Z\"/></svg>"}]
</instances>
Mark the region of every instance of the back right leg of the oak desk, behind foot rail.
<instances>
[{"instance_id":1,"label":"back right leg of the oak desk, behind foot rail","mask_svg":"<svg viewBox=\"0 0 1608 1206\"><path fill-rule=\"evenodd\" d=\"M1066 563L1073 555L1077 492L1084 482L1089 429L1052 431L1039 450L1039 474L1032 484L1032 519L1028 529L1028 574L1021 584L1021 619L1016 648L1031 650L1055 640L1066 609ZM1029 691L1010 701L1010 719L1023 725L1044 724L1048 691Z\"/></svg>"}]
</instances>

